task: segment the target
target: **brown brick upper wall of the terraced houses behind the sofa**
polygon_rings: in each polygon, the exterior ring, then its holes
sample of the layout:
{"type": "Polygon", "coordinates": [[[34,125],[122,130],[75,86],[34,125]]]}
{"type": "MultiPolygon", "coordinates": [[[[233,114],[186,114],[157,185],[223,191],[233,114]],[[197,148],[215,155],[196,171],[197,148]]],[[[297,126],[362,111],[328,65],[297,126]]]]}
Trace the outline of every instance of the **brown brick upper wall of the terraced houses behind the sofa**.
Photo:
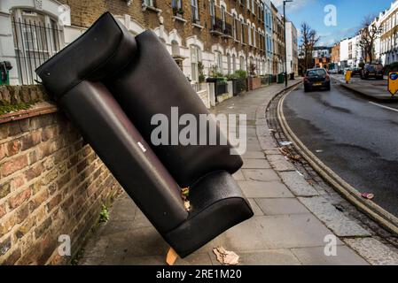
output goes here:
{"type": "MultiPolygon", "coordinates": [[[[200,25],[203,29],[198,27],[192,27],[191,25],[191,0],[183,0],[183,19],[186,19],[186,23],[173,19],[173,9],[171,1],[167,0],[153,0],[153,3],[157,8],[161,10],[160,14],[155,11],[143,11],[142,0],[134,0],[129,6],[124,0],[60,0],[59,2],[68,4],[71,7],[71,19],[72,25],[78,27],[90,27],[92,23],[98,19],[98,17],[105,11],[110,11],[113,15],[124,15],[128,14],[131,19],[136,20],[145,28],[160,27],[160,16],[163,19],[163,25],[168,31],[176,29],[178,34],[183,38],[183,44],[185,39],[191,35],[197,35],[201,42],[205,43],[205,50],[211,50],[211,47],[219,43],[224,49],[235,48],[237,52],[240,50],[244,51],[246,55],[252,52],[254,56],[260,54],[265,56],[265,50],[260,50],[260,36],[256,34],[256,47],[247,45],[248,30],[247,28],[243,31],[245,34],[245,42],[243,45],[239,42],[235,42],[233,39],[222,38],[221,36],[215,36],[210,34],[210,14],[209,14],[209,2],[208,0],[199,0],[199,20],[200,25]]],[[[217,1],[217,4],[220,2],[217,1]]],[[[239,4],[235,0],[226,0],[227,10],[230,12],[235,9],[238,14],[243,15],[246,19],[249,19],[252,23],[255,23],[256,27],[264,29],[263,22],[258,19],[257,11],[254,15],[251,11],[248,11],[246,4],[239,4]]],[[[246,3],[246,2],[245,2],[246,3]]],[[[216,8],[216,16],[220,16],[219,8],[216,8]]],[[[238,28],[238,38],[242,31],[238,28]]]]}

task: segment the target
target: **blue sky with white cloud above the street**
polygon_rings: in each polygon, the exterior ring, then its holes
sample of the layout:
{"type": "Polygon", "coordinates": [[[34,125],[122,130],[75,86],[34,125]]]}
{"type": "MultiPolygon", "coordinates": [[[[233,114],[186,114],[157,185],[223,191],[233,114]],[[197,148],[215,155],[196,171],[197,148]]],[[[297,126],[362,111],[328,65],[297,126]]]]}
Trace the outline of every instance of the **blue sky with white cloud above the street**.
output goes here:
{"type": "MultiPolygon", "coordinates": [[[[283,13],[283,0],[271,1],[283,13]]],[[[394,0],[293,0],[293,3],[286,3],[286,17],[293,21],[299,35],[301,23],[307,22],[321,36],[318,45],[332,46],[343,38],[355,35],[364,17],[378,16],[392,2],[394,0]],[[336,26],[324,24],[327,14],[324,8],[328,4],[336,7],[336,26]]]]}

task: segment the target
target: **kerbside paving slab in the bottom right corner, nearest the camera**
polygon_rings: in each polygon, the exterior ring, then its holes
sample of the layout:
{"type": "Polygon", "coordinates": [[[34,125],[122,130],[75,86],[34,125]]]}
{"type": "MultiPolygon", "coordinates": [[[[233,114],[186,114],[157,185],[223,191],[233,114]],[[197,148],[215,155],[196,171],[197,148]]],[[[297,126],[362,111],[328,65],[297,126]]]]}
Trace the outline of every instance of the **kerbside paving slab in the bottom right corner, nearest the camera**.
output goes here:
{"type": "Polygon", "coordinates": [[[398,251],[375,238],[345,239],[344,241],[372,265],[398,265],[398,251]]]}

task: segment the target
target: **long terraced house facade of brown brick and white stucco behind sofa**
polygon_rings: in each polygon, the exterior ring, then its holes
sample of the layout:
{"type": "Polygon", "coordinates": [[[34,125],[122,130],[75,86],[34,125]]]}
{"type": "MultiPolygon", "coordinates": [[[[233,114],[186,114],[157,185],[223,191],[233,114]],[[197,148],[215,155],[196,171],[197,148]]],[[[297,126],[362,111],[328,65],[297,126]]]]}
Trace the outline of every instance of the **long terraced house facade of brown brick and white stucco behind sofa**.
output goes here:
{"type": "Polygon", "coordinates": [[[131,34],[152,29],[192,83],[236,70],[283,72],[283,21],[270,1],[2,0],[0,60],[12,63],[11,84],[35,83],[35,68],[105,11],[131,34]]]}

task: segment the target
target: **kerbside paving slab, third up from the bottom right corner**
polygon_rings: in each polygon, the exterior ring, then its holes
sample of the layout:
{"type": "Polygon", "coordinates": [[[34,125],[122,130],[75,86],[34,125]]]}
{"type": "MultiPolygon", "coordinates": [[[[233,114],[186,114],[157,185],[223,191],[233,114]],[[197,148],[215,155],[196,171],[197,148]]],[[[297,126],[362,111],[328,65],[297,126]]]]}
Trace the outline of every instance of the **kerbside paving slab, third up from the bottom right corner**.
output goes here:
{"type": "Polygon", "coordinates": [[[319,195],[298,172],[280,172],[283,182],[297,196],[319,195]]]}

